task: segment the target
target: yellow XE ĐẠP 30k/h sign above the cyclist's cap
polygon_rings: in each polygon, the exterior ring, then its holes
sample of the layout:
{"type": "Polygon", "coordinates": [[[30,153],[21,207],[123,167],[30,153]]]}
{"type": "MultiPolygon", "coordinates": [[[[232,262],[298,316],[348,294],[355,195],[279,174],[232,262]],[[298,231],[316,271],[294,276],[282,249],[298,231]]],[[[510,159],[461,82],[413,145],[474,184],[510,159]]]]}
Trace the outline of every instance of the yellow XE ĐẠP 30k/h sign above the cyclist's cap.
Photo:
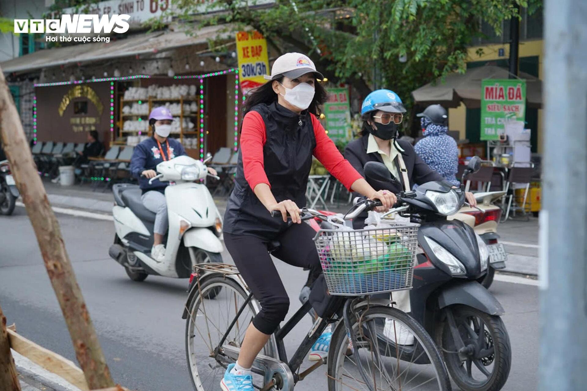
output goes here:
{"type": "Polygon", "coordinates": [[[258,31],[237,32],[238,70],[242,93],[255,89],[266,82],[269,74],[267,41],[258,31]]]}

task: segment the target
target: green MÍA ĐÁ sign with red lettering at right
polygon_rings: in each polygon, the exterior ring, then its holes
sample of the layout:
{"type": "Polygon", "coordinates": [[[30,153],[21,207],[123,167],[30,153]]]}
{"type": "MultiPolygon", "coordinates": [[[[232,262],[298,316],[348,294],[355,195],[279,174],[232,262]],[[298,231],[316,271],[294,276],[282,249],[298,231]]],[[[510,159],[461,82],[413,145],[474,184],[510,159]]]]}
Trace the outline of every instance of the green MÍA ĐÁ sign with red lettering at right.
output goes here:
{"type": "Polygon", "coordinates": [[[507,121],[526,118],[526,81],[485,79],[481,81],[481,140],[499,140],[507,121]]]}

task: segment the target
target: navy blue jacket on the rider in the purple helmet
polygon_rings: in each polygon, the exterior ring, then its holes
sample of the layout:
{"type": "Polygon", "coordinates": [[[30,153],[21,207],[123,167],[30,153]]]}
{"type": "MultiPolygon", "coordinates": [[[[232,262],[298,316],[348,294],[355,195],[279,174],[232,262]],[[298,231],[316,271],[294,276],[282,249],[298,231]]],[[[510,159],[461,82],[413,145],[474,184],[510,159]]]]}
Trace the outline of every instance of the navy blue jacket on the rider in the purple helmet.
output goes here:
{"type": "MultiPolygon", "coordinates": [[[[169,156],[167,155],[167,144],[161,143],[161,149],[167,160],[176,158],[181,155],[185,155],[185,149],[181,142],[168,137],[169,142],[169,156]]],[[[157,145],[157,140],[154,137],[147,138],[142,141],[139,145],[134,147],[133,157],[130,159],[130,173],[135,177],[139,178],[140,188],[143,189],[143,194],[150,191],[156,190],[161,193],[165,192],[165,188],[169,185],[168,182],[161,182],[155,179],[153,183],[149,185],[149,179],[141,177],[141,172],[146,169],[156,169],[157,164],[163,161],[161,151],[157,145]]]]}

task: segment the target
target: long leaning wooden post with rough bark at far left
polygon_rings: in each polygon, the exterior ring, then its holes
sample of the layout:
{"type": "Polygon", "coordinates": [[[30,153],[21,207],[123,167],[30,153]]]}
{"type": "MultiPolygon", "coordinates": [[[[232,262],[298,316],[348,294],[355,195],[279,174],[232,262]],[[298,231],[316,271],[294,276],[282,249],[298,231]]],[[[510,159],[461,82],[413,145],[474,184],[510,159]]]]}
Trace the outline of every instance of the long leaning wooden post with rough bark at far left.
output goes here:
{"type": "Polygon", "coordinates": [[[1,69],[0,135],[87,385],[90,389],[113,387],[110,370],[65,250],[59,223],[49,205],[45,187],[33,162],[31,148],[1,69]]]}

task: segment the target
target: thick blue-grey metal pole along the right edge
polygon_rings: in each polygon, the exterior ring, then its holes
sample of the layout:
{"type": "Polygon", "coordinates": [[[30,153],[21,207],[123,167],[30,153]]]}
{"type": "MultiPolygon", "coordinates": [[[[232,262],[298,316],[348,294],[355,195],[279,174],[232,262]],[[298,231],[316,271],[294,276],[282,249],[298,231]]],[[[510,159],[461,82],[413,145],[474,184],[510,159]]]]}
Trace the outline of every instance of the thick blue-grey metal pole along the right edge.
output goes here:
{"type": "Polygon", "coordinates": [[[587,4],[546,0],[539,390],[587,384],[587,4]]]}

